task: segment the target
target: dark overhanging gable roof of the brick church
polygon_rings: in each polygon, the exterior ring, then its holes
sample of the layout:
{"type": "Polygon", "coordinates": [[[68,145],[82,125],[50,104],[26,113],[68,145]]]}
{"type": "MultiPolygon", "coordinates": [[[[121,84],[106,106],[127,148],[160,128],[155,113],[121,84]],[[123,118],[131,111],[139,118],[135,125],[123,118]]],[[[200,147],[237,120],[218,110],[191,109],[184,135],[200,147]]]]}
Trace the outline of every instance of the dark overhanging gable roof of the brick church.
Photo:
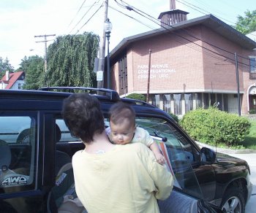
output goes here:
{"type": "Polygon", "coordinates": [[[217,34],[224,36],[230,41],[235,42],[236,44],[239,44],[241,47],[244,47],[248,50],[252,50],[256,47],[256,42],[254,42],[252,39],[249,39],[247,36],[241,34],[235,28],[227,25],[222,20],[219,20],[214,15],[210,14],[191,20],[185,20],[180,23],[175,23],[172,26],[168,26],[166,28],[158,28],[153,31],[147,31],[142,34],[126,37],[110,52],[110,58],[116,58],[117,55],[126,50],[127,46],[132,42],[137,42],[141,39],[147,39],[152,36],[166,34],[167,32],[177,31],[182,28],[196,26],[199,24],[202,24],[207,28],[211,28],[211,30],[215,31],[217,34]]]}

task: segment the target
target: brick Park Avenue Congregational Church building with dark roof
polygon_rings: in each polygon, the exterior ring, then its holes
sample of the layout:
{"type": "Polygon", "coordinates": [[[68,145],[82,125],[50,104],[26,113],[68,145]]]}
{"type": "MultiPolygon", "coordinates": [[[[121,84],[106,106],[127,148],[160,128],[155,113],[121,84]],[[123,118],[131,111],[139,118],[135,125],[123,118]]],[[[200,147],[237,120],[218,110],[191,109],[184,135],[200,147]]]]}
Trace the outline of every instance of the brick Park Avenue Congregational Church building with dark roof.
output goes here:
{"type": "Polygon", "coordinates": [[[187,12],[173,9],[159,18],[162,28],[124,38],[111,51],[110,88],[146,95],[151,50],[149,102],[157,107],[176,115],[214,104],[241,115],[256,109],[252,39],[214,15],[187,20],[187,12]]]}

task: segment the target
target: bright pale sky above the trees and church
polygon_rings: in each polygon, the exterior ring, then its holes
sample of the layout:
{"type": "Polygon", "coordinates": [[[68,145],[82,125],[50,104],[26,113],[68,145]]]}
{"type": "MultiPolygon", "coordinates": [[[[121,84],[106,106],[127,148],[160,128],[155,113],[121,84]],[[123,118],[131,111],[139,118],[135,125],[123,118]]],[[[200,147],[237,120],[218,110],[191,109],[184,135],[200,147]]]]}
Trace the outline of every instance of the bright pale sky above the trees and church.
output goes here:
{"type": "MultiPolygon", "coordinates": [[[[104,0],[1,0],[0,1],[0,57],[8,58],[18,69],[25,56],[45,55],[47,46],[57,36],[93,32],[102,37],[105,9],[104,0]]],[[[170,10],[170,0],[108,0],[108,18],[113,25],[110,51],[127,36],[159,28],[156,23],[129,11],[125,3],[140,9],[144,16],[158,18],[170,10]],[[126,15],[124,15],[126,14],[126,15]],[[128,17],[129,16],[129,17],[128,17]],[[132,19],[132,18],[133,19],[132,19]]],[[[188,20],[212,14],[229,25],[235,25],[238,15],[256,9],[255,0],[176,0],[176,9],[189,12],[188,20]]],[[[140,12],[140,13],[141,13],[140,12]]]]}

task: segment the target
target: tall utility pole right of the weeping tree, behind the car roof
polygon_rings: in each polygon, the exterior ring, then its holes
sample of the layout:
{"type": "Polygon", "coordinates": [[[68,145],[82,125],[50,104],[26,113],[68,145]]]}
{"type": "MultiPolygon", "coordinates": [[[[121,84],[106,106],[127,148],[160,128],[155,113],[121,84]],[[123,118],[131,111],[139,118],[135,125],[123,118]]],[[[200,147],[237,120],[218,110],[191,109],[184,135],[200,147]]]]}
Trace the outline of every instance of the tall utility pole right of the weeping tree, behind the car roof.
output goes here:
{"type": "Polygon", "coordinates": [[[104,77],[105,77],[105,44],[106,44],[106,34],[105,34],[105,21],[108,18],[108,0],[105,0],[105,12],[103,20],[103,34],[99,41],[99,66],[97,71],[97,88],[104,87],[104,77]]]}

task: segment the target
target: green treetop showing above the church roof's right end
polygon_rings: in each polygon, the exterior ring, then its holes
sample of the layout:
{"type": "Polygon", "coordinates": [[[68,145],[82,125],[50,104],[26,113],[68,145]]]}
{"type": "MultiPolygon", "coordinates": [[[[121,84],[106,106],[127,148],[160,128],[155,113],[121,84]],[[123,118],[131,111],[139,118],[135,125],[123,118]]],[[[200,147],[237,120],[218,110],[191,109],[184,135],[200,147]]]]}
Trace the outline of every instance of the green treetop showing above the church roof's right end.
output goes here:
{"type": "Polygon", "coordinates": [[[244,12],[244,15],[245,17],[238,15],[236,25],[233,27],[242,34],[249,34],[256,31],[256,10],[253,10],[252,12],[247,10],[244,12]]]}

